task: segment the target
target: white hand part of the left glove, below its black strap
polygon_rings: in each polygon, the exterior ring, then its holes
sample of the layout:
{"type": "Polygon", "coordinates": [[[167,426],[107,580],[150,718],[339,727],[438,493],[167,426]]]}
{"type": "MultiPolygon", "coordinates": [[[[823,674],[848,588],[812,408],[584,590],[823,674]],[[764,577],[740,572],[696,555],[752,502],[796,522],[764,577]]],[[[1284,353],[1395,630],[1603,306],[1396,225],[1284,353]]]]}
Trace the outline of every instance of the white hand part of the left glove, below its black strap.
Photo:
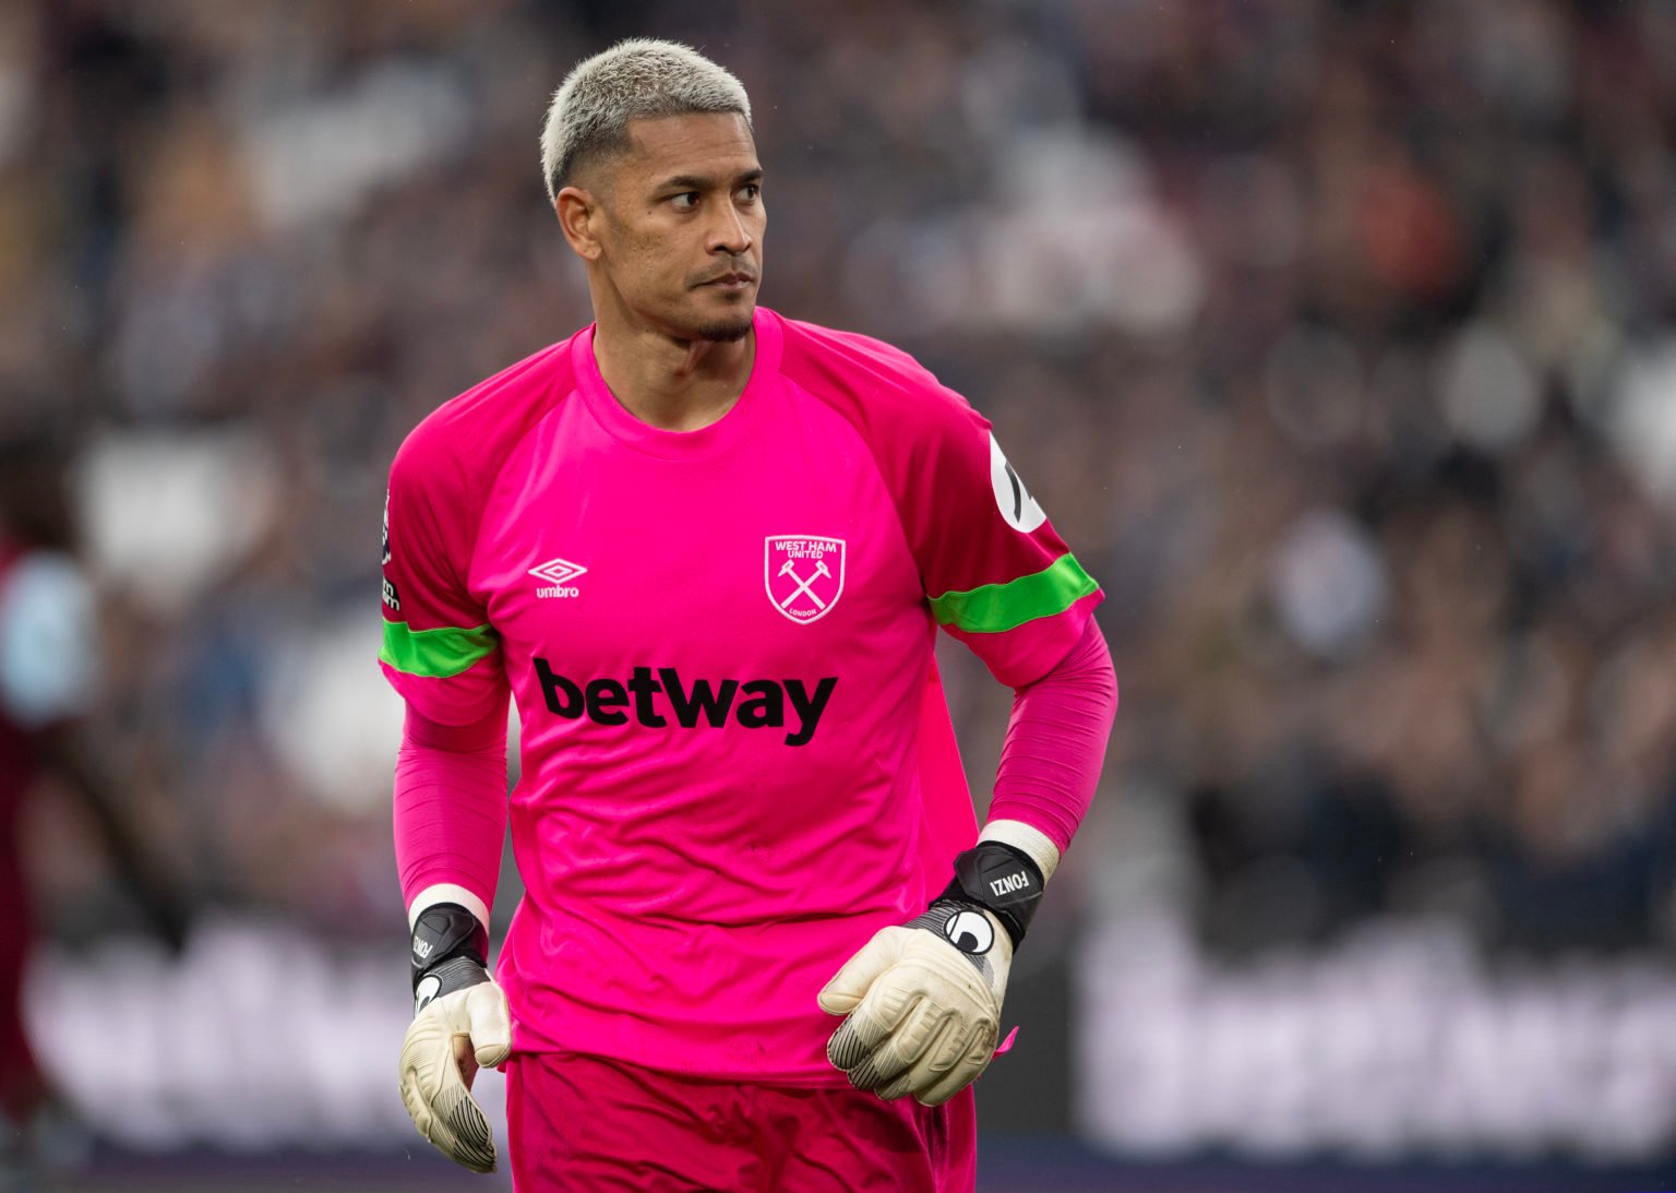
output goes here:
{"type": "Polygon", "coordinates": [[[471,1082],[479,1066],[493,1067],[506,1059],[511,1037],[506,994],[486,974],[476,985],[429,1000],[421,982],[419,1010],[402,1039],[402,1101],[419,1134],[478,1173],[494,1171],[494,1139],[483,1108],[471,1096],[471,1082]]]}

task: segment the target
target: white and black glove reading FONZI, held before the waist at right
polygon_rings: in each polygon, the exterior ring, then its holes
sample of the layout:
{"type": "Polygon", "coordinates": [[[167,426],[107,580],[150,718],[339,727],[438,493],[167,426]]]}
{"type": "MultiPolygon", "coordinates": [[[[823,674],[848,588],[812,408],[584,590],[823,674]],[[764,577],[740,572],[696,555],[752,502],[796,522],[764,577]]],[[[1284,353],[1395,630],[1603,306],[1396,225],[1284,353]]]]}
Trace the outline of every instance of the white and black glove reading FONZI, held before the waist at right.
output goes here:
{"type": "Polygon", "coordinates": [[[845,1015],[826,1059],[885,1099],[940,1106],[965,1089],[996,1054],[1012,950],[1041,893],[1041,870],[1009,844],[955,858],[922,915],[878,932],[821,990],[821,1010],[845,1015]]]}

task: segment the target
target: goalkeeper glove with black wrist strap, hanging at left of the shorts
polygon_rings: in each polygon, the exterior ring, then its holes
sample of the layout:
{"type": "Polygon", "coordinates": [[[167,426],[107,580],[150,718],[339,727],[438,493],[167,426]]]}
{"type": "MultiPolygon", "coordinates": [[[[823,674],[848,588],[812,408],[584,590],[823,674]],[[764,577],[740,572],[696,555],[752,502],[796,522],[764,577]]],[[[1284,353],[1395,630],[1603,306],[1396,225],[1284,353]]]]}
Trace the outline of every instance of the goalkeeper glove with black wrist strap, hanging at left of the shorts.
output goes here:
{"type": "Polygon", "coordinates": [[[478,1067],[511,1052],[511,1012],[483,958],[489,933],[458,903],[427,906],[414,925],[414,1020],[402,1039],[402,1101],[419,1134],[478,1173],[494,1171],[494,1139],[471,1097],[478,1067]]]}

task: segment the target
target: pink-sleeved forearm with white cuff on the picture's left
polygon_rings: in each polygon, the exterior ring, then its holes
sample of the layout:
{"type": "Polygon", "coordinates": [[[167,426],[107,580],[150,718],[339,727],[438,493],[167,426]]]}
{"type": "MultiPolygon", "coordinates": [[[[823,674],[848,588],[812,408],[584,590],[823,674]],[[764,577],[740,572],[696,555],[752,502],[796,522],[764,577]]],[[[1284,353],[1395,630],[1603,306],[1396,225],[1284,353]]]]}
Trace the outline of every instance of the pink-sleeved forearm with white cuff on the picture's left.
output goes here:
{"type": "Polygon", "coordinates": [[[504,705],[471,726],[442,726],[409,705],[394,828],[409,927],[444,901],[488,927],[506,834],[504,705]]]}

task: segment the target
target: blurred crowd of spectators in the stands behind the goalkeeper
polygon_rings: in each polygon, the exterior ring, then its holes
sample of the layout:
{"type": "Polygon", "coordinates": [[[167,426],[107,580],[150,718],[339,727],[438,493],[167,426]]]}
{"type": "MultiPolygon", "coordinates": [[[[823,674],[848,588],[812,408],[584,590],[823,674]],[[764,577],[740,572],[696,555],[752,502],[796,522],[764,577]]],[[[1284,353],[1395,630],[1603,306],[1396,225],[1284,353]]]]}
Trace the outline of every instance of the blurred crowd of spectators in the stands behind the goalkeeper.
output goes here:
{"type": "MultiPolygon", "coordinates": [[[[1676,935],[1656,0],[5,5],[0,441],[74,459],[94,727],[198,898],[401,923],[385,469],[587,322],[536,134],[634,34],[753,96],[763,300],[970,397],[1104,585],[1103,799],[1210,942],[1676,935]]],[[[949,677],[982,803],[1011,694],[949,677]]]]}

